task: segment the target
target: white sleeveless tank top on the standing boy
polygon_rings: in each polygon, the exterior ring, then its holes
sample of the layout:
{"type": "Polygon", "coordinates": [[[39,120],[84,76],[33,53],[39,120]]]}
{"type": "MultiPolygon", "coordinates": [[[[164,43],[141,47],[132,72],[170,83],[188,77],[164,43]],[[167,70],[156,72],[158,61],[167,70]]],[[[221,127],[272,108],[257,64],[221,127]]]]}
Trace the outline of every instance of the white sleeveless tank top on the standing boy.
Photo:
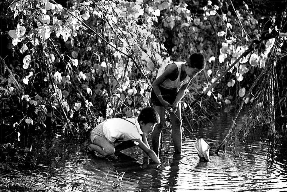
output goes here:
{"type": "MultiPolygon", "coordinates": [[[[174,81],[172,81],[170,79],[166,79],[164,82],[162,82],[162,84],[160,86],[163,88],[166,88],[166,89],[174,89],[177,87],[181,87],[182,85],[185,85],[189,82],[189,76],[186,76],[186,78],[183,81],[180,81],[181,65],[184,64],[185,62],[170,62],[168,64],[172,64],[172,63],[175,63],[177,65],[177,68],[179,70],[179,76],[174,81]]],[[[159,76],[161,76],[163,74],[163,72],[165,71],[165,68],[168,64],[165,64],[158,69],[158,74],[157,74],[156,78],[158,78],[159,76]]]]}

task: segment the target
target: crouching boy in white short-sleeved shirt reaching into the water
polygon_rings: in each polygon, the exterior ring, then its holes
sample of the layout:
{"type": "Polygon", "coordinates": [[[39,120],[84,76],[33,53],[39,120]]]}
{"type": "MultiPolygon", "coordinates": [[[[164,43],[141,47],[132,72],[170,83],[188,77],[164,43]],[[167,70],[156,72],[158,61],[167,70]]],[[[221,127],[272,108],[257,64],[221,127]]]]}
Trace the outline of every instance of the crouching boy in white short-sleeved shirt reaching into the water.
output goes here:
{"type": "Polygon", "coordinates": [[[87,146],[87,151],[96,151],[104,156],[112,155],[115,153],[112,143],[130,141],[145,152],[145,157],[150,157],[153,162],[160,163],[160,159],[150,149],[146,137],[159,122],[160,117],[152,107],[144,108],[138,118],[107,119],[91,131],[92,144],[87,146]]]}

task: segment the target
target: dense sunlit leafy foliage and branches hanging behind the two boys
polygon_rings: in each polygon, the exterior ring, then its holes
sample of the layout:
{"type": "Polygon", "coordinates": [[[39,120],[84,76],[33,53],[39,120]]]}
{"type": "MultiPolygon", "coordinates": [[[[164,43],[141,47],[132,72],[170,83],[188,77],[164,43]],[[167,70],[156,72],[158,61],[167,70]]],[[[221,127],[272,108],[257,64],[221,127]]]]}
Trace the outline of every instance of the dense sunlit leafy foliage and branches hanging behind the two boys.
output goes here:
{"type": "Polygon", "coordinates": [[[1,1],[1,131],[20,139],[57,125],[78,134],[136,116],[150,105],[157,69],[193,52],[207,66],[183,100],[188,124],[210,118],[210,106],[246,103],[249,124],[274,129],[286,116],[286,7],[261,12],[267,3],[1,1]]]}

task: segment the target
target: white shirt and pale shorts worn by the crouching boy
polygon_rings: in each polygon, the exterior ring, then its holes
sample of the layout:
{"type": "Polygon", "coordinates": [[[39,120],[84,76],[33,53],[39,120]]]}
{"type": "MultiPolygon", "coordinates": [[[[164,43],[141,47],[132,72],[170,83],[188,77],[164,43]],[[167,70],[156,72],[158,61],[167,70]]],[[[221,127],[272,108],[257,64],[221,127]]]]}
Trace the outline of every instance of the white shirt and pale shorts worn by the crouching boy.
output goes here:
{"type": "Polygon", "coordinates": [[[112,118],[100,123],[91,131],[91,140],[96,135],[105,137],[110,143],[119,141],[140,141],[142,132],[137,118],[112,118]]]}

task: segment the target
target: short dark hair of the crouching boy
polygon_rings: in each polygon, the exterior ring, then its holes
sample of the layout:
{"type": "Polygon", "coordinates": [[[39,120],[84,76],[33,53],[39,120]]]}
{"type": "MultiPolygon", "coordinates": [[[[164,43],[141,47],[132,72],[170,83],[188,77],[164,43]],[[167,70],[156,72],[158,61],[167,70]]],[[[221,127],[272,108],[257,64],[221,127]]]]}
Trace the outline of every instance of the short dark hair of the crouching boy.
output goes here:
{"type": "Polygon", "coordinates": [[[138,122],[142,121],[144,122],[144,124],[148,123],[158,124],[160,123],[160,116],[154,108],[146,107],[143,110],[141,110],[141,113],[139,114],[137,121],[138,122]]]}

